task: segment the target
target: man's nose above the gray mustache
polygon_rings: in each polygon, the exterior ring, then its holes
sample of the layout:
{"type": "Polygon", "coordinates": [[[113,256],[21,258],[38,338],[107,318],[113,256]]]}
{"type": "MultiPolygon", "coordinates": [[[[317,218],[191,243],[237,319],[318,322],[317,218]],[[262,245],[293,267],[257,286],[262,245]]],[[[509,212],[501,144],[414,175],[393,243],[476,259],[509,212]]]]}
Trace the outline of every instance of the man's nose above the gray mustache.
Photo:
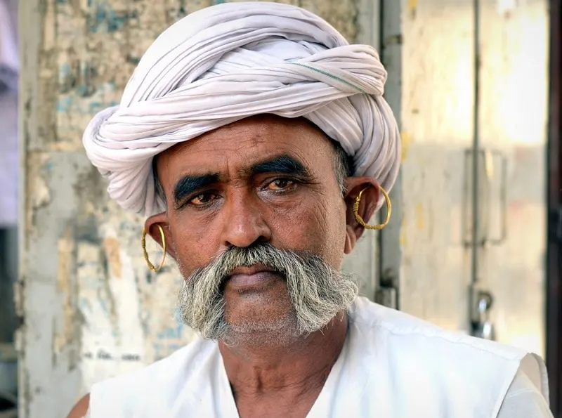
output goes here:
{"type": "Polygon", "coordinates": [[[263,218],[263,202],[257,196],[236,190],[223,204],[221,244],[228,247],[250,247],[256,242],[269,242],[271,230],[263,218]]]}

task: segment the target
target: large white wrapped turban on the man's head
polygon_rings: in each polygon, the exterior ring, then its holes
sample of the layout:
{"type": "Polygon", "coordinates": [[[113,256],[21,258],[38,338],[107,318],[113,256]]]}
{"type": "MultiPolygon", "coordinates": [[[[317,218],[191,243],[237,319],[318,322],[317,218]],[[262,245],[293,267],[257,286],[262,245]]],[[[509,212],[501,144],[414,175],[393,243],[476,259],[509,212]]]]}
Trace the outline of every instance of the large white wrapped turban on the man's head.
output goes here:
{"type": "Polygon", "coordinates": [[[377,51],[349,45],[325,20],[287,4],[225,3],[192,13],[148,48],[121,103],[84,132],[107,191],[145,216],[165,210],[152,159],[245,117],[305,117],[353,157],[354,176],[390,190],[400,164],[377,51]]]}

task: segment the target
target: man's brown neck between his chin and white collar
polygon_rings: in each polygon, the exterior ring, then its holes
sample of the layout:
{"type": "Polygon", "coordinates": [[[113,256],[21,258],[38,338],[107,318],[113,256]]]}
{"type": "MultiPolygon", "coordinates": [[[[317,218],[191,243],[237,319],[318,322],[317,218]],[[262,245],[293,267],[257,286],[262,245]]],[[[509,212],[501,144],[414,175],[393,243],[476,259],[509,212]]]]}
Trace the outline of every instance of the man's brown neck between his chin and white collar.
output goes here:
{"type": "Polygon", "coordinates": [[[347,327],[347,315],[341,313],[321,331],[289,345],[219,343],[235,400],[278,397],[280,392],[295,400],[314,392],[318,396],[344,346],[347,327]]]}

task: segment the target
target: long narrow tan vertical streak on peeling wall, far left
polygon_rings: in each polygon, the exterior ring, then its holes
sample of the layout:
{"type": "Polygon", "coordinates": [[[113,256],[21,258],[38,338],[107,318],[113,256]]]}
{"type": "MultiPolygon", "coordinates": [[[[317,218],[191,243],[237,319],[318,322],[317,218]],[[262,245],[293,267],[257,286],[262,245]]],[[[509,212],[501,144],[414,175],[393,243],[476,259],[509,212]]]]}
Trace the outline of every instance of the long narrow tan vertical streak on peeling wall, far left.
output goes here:
{"type": "Polygon", "coordinates": [[[53,351],[60,353],[72,341],[74,328],[74,308],[72,307],[72,292],[70,289],[70,274],[72,271],[72,254],[74,254],[74,240],[72,228],[67,226],[65,233],[57,242],[58,268],[57,289],[64,294],[63,330],[57,332],[53,338],[53,351]]]}

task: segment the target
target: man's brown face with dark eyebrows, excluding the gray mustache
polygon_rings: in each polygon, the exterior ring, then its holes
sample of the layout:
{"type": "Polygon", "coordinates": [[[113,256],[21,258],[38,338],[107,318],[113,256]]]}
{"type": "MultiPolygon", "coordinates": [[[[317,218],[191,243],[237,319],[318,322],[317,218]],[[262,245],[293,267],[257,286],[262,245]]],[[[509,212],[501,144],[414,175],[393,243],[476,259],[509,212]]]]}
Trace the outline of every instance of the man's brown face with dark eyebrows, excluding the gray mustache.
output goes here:
{"type": "MultiPolygon", "coordinates": [[[[334,148],[308,122],[244,119],[162,153],[157,170],[168,204],[166,235],[186,280],[230,249],[264,246],[341,268],[349,229],[334,148]]],[[[258,263],[221,279],[229,325],[271,330],[292,323],[287,278],[266,270],[258,263]]]]}

